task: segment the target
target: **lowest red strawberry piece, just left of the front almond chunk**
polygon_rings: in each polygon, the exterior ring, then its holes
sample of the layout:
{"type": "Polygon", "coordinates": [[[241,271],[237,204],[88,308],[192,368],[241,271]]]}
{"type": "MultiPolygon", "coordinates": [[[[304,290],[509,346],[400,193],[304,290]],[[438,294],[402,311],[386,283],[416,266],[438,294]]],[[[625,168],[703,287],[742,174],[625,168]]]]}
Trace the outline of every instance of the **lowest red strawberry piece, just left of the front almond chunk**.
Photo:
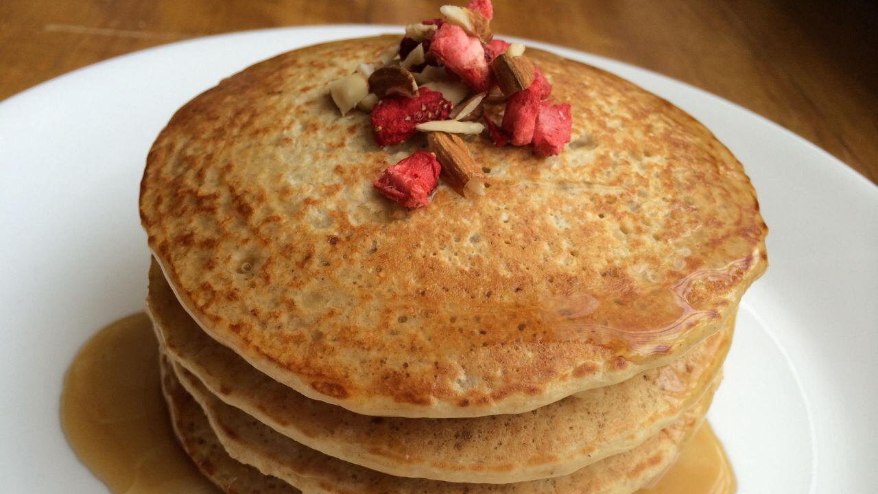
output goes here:
{"type": "Polygon", "coordinates": [[[440,171],[442,165],[433,153],[418,151],[388,167],[372,185],[405,207],[427,206],[440,171]]]}

